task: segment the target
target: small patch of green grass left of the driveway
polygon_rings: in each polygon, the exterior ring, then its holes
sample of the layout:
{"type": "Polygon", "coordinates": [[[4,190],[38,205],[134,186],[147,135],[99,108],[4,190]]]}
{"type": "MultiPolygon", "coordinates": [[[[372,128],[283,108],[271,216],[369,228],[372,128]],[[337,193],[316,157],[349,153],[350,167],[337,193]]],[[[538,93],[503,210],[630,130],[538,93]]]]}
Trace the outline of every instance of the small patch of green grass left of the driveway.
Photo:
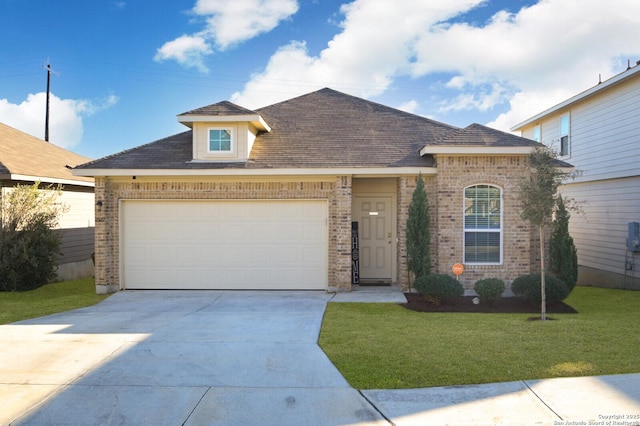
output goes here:
{"type": "Polygon", "coordinates": [[[47,284],[25,292],[0,292],[0,324],[95,305],[108,295],[97,295],[93,278],[47,284]]]}

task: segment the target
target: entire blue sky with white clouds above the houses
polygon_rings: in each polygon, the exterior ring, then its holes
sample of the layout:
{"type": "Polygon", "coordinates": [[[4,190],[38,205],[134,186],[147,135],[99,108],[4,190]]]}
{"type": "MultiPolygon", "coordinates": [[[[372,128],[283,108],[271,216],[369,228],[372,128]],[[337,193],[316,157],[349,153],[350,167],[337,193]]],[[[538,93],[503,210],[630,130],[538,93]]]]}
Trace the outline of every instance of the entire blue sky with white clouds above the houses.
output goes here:
{"type": "Polygon", "coordinates": [[[323,87],[509,131],[640,60],[638,0],[0,0],[0,122],[100,158],[323,87]]]}

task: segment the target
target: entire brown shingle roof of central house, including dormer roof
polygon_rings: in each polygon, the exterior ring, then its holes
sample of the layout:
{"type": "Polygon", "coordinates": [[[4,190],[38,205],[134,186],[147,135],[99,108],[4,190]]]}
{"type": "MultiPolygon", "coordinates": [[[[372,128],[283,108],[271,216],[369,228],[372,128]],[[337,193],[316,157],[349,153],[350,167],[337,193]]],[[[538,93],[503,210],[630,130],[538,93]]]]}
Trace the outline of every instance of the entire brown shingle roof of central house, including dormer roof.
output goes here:
{"type": "Polygon", "coordinates": [[[79,169],[225,169],[432,167],[425,145],[533,146],[473,124],[460,129],[331,89],[250,111],[219,102],[181,115],[259,114],[271,127],[256,137],[249,161],[192,162],[192,131],[114,154],[79,169]]]}

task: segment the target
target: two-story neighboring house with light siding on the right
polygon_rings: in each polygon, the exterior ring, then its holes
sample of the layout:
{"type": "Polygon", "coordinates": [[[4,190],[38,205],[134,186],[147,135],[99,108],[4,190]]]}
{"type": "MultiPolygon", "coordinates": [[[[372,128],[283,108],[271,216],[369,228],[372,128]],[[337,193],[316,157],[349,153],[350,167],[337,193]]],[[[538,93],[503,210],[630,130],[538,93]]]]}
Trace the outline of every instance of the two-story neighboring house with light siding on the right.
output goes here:
{"type": "Polygon", "coordinates": [[[561,188],[580,203],[570,232],[578,283],[640,289],[640,66],[513,127],[579,171],[561,188]]]}

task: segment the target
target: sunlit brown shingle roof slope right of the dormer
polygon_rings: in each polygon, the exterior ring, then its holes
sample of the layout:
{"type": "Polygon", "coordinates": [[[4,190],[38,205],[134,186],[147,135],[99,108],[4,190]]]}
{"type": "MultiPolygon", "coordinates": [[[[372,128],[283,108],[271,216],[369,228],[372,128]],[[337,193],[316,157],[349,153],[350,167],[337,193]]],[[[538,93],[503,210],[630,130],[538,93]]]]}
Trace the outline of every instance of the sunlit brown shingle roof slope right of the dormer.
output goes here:
{"type": "Polygon", "coordinates": [[[250,158],[276,168],[431,166],[420,148],[456,129],[331,89],[257,112],[272,130],[250,158]]]}

